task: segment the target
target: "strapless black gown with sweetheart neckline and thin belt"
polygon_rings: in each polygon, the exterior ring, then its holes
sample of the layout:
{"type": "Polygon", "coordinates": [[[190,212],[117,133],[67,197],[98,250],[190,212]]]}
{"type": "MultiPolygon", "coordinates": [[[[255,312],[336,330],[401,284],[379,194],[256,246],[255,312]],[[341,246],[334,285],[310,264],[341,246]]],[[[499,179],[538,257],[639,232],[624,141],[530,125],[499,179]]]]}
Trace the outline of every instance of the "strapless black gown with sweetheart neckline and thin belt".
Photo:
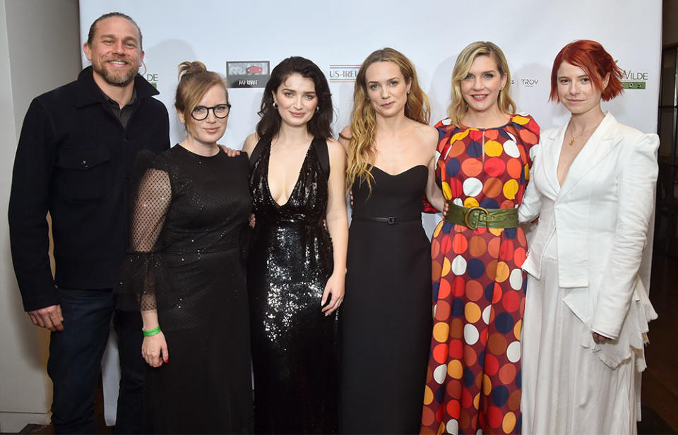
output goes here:
{"type": "Polygon", "coordinates": [[[421,221],[428,169],[371,173],[371,193],[367,183],[353,187],[340,431],[418,434],[432,328],[431,244],[421,221]]]}

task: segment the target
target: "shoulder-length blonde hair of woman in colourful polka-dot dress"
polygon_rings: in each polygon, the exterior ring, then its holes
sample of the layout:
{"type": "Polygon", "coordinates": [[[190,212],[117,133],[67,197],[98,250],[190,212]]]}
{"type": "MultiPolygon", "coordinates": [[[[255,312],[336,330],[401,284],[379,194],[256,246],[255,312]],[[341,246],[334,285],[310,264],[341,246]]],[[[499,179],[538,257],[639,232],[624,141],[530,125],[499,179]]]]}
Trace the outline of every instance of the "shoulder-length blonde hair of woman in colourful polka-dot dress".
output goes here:
{"type": "Polygon", "coordinates": [[[499,92],[499,98],[496,105],[502,113],[515,113],[516,103],[511,100],[511,71],[509,71],[509,63],[506,61],[504,52],[493,42],[477,41],[468,44],[457,56],[457,61],[452,70],[452,95],[451,102],[447,108],[447,115],[450,117],[452,124],[456,126],[461,125],[466,112],[468,112],[468,103],[461,95],[461,81],[468,75],[471,65],[477,56],[489,56],[496,62],[496,68],[499,70],[501,76],[506,75],[506,85],[504,89],[499,92]]]}

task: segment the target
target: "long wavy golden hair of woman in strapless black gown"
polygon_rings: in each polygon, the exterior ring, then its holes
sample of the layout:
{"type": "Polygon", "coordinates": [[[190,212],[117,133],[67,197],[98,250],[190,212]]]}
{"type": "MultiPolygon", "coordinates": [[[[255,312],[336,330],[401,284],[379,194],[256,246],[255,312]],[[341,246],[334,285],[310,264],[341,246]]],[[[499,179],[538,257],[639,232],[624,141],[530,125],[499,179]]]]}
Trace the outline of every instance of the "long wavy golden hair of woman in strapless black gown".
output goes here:
{"type": "Polygon", "coordinates": [[[393,62],[400,68],[405,81],[410,83],[410,93],[405,103],[405,117],[422,124],[429,124],[431,108],[429,98],[417,79],[417,71],[404,54],[389,47],[376,50],[364,60],[355,78],[353,90],[353,111],[351,112],[351,138],[346,169],[346,189],[350,190],[355,181],[367,181],[371,190],[371,167],[376,153],[374,134],[376,131],[376,114],[374,107],[367,100],[367,68],[375,62],[393,62]]]}

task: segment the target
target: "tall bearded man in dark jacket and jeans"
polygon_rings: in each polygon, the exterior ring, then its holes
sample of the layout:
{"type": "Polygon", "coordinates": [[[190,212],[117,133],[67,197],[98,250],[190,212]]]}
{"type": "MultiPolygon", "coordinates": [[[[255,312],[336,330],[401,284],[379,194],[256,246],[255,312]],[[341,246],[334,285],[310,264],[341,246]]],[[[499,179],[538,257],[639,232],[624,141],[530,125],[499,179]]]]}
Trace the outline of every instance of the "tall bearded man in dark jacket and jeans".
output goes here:
{"type": "Polygon", "coordinates": [[[107,13],[83,45],[92,66],[36,97],[23,121],[9,202],[14,270],[30,320],[52,331],[47,372],[57,433],[95,433],[94,395],[113,318],[121,382],[116,431],[141,427],[141,315],[115,311],[112,287],[129,240],[138,150],[169,148],[167,109],[138,75],[141,30],[107,13]],[[52,217],[56,273],[49,266],[52,217]]]}

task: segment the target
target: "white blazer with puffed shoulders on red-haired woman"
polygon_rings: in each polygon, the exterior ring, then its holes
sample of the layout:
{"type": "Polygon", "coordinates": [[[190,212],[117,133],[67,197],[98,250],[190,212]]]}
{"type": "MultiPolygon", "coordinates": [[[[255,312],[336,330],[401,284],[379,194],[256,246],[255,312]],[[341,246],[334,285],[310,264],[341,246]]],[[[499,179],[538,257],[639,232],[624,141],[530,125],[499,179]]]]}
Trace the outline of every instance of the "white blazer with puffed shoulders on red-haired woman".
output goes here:
{"type": "Polygon", "coordinates": [[[639,271],[643,254],[648,261],[651,254],[659,138],[607,113],[560,186],[566,128],[542,133],[518,210],[521,222],[539,217],[523,270],[540,279],[544,250],[556,237],[559,285],[571,289],[564,302],[590,330],[617,339],[632,299],[645,311],[646,326],[657,316],[647,296],[649,263],[639,271]]]}

